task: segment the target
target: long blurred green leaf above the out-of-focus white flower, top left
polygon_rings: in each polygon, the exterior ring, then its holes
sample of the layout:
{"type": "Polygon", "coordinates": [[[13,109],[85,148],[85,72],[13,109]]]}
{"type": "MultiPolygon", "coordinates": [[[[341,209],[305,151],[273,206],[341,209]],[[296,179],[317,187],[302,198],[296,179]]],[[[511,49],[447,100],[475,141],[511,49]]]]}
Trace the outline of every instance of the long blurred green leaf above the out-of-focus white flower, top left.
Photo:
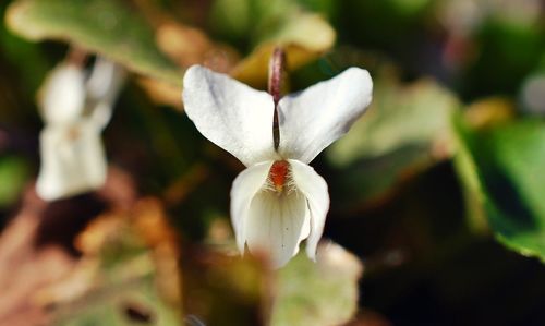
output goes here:
{"type": "Polygon", "coordinates": [[[68,41],[136,73],[181,85],[181,70],[159,51],[146,20],[123,1],[20,0],[9,7],[7,23],[27,39],[68,41]]]}

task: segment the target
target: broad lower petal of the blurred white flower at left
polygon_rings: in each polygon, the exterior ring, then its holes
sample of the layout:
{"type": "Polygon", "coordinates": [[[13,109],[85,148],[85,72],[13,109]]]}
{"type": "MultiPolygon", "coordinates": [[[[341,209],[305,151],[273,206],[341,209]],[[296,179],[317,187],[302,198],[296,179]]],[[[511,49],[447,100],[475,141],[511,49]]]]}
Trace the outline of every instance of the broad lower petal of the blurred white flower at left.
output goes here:
{"type": "Polygon", "coordinates": [[[48,125],[40,134],[37,193],[47,201],[95,190],[106,181],[100,130],[88,121],[48,125]]]}

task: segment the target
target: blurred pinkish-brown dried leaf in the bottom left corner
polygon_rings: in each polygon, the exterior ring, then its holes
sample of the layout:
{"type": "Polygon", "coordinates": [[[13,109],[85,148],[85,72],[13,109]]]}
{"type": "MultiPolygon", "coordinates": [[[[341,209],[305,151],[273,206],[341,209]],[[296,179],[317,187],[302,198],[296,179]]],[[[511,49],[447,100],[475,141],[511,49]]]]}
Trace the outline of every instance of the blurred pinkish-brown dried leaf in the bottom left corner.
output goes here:
{"type": "Polygon", "coordinates": [[[49,314],[36,298],[37,291],[62,279],[75,258],[58,244],[37,245],[43,230],[44,202],[27,191],[21,212],[0,238],[0,325],[45,325],[49,314]]]}

